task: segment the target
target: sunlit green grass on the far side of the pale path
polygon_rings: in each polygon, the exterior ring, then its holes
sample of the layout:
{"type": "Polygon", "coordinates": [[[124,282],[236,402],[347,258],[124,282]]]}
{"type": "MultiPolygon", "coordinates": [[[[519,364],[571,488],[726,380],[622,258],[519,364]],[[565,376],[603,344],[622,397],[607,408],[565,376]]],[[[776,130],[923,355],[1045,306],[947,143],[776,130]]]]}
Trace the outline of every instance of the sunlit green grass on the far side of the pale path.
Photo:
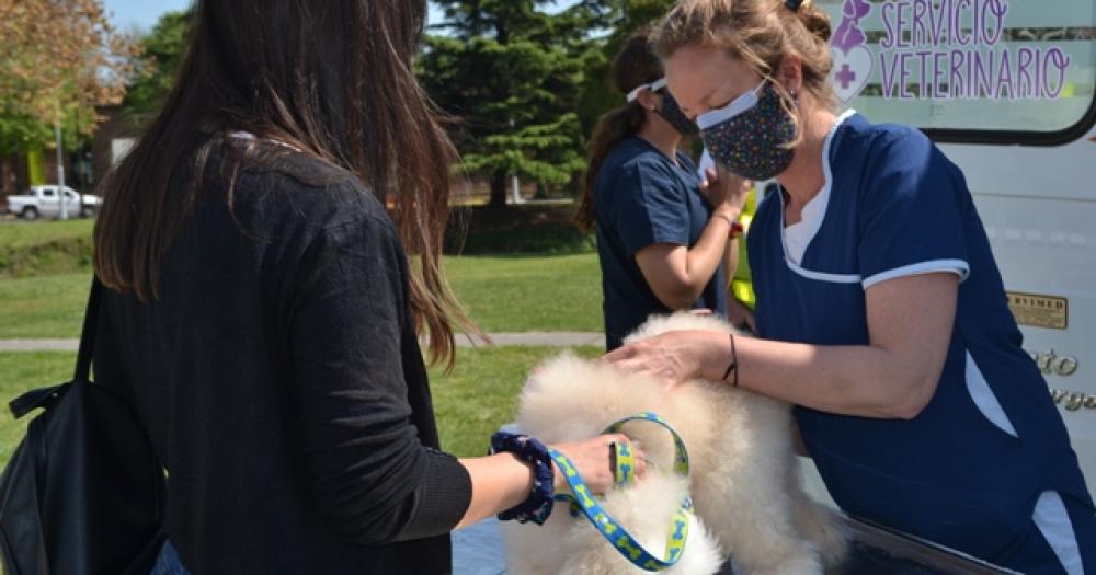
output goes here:
{"type": "MultiPolygon", "coordinates": [[[[449,281],[489,332],[602,329],[596,254],[447,257],[449,281]]],[[[91,272],[0,279],[0,340],[78,337],[91,272]]]]}

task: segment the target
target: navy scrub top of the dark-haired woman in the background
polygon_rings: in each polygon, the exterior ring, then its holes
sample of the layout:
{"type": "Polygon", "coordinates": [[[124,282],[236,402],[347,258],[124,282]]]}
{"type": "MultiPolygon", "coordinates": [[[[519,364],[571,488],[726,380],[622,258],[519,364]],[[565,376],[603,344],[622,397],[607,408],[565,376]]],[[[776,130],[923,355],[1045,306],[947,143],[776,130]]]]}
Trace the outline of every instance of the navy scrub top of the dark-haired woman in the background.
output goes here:
{"type": "MultiPolygon", "coordinates": [[[[647,284],[636,252],[655,243],[692,249],[708,225],[711,208],[700,195],[700,179],[688,156],[678,152],[675,163],[639,137],[621,141],[609,152],[594,192],[605,346],[613,350],[652,313],[673,311],[647,284]]],[[[719,266],[694,309],[727,315],[724,267],[719,266]]]]}

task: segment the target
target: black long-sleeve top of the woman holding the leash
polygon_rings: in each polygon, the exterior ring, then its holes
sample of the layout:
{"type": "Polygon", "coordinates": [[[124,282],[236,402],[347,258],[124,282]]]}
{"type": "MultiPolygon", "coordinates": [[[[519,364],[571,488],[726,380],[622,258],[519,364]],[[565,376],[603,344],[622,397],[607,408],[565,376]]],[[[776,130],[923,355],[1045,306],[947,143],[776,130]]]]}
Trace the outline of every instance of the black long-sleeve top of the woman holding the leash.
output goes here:
{"type": "Polygon", "coordinates": [[[388,215],[297,153],[229,210],[222,162],[160,297],[107,291],[94,356],[168,471],[169,539],[196,574],[448,573],[471,482],[437,450],[388,215]]]}

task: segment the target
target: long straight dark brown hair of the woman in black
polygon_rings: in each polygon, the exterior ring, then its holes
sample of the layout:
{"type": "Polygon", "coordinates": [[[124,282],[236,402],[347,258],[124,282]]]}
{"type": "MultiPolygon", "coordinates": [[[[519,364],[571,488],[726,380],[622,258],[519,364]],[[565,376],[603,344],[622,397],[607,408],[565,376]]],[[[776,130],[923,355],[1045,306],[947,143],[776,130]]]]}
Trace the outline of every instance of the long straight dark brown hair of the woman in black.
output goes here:
{"type": "MultiPolygon", "coordinates": [[[[162,258],[183,227],[210,151],[236,130],[288,143],[359,179],[419,265],[411,307],[432,358],[453,365],[453,322],[471,326],[441,267],[456,151],[415,81],[425,0],[198,0],[175,88],[103,184],[95,268],[103,283],[158,297],[162,258]]],[[[232,173],[262,165],[248,148],[232,173]]],[[[269,162],[267,162],[269,163],[269,162]]],[[[232,177],[228,200],[231,205],[232,177]]],[[[475,330],[475,329],[473,329],[475,330]]]]}

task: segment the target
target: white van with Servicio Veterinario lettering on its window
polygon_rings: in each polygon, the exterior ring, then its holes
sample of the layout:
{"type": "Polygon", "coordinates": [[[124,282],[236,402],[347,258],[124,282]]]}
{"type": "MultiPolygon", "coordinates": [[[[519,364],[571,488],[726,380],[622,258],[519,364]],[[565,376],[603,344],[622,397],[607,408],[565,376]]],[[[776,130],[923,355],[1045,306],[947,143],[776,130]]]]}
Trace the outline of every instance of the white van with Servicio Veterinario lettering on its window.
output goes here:
{"type": "Polygon", "coordinates": [[[817,4],[843,105],[920,127],[966,173],[1096,497],[1096,2],[817,4]]]}

